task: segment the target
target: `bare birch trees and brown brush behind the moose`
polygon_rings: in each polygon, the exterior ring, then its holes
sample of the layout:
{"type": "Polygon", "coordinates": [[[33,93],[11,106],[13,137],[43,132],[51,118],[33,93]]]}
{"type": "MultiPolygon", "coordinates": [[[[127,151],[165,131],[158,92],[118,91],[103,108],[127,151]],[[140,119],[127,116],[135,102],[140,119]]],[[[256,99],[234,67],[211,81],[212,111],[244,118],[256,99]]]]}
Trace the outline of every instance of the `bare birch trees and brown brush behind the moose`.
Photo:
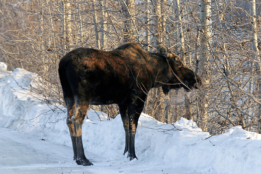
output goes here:
{"type": "MultiPolygon", "coordinates": [[[[261,132],[260,0],[0,0],[0,62],[39,75],[30,90],[59,109],[60,59],[77,47],[165,44],[202,79],[194,92],[152,89],[143,112],[193,119],[212,135],[242,125],[261,132]]],[[[29,78],[29,77],[28,77],[29,78]]],[[[114,104],[92,106],[119,112],[114,104]]]]}

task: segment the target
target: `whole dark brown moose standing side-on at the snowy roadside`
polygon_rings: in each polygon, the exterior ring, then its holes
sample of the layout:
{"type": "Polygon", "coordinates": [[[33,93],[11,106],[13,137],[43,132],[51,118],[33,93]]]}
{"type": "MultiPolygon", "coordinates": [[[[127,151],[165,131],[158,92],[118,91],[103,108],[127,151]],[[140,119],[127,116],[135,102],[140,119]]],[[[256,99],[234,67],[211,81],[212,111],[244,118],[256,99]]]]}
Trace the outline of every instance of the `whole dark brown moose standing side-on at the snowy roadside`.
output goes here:
{"type": "Polygon", "coordinates": [[[128,42],[112,51],[77,48],[59,63],[59,76],[67,108],[67,125],[73,143],[74,160],[78,165],[93,165],[87,160],[82,126],[90,104],[118,104],[125,130],[127,158],[135,155],[134,140],[138,119],[149,90],[162,87],[197,89],[201,80],[166,46],[151,53],[138,44],[128,42]]]}

